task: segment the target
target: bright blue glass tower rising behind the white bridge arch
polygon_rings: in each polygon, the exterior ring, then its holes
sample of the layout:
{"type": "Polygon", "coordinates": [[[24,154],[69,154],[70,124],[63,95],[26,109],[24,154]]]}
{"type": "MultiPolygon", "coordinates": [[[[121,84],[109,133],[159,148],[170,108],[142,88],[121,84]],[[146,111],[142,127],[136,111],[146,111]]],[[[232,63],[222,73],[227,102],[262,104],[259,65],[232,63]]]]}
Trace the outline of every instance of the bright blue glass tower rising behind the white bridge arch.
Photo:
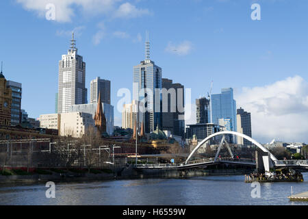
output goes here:
{"type": "MultiPolygon", "coordinates": [[[[222,88],[221,94],[211,94],[212,123],[219,124],[219,119],[230,119],[230,131],[236,131],[236,101],[233,99],[232,88],[222,88]]],[[[233,143],[235,143],[235,138],[233,143]]],[[[231,143],[232,143],[231,142],[231,143]]]]}

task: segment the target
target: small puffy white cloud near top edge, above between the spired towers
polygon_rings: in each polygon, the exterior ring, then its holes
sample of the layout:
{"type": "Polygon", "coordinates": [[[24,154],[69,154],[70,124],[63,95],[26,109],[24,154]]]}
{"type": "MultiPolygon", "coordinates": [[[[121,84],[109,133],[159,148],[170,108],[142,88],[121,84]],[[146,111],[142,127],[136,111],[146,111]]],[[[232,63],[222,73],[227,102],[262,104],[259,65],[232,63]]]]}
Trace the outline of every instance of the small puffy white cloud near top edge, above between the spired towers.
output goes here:
{"type": "Polygon", "coordinates": [[[135,5],[131,5],[131,3],[123,3],[120,5],[118,10],[114,13],[114,18],[136,18],[143,15],[149,15],[148,9],[138,9],[135,5]]]}

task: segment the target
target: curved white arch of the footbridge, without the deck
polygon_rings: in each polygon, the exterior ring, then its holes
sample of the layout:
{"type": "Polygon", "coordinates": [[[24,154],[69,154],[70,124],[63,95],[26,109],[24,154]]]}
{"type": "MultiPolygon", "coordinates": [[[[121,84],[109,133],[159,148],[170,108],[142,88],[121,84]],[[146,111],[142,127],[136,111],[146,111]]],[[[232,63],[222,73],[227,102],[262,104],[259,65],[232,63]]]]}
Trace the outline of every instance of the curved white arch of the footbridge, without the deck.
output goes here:
{"type": "MultiPolygon", "coordinates": [[[[257,142],[256,140],[254,140],[253,138],[244,135],[243,133],[238,133],[235,131],[219,131],[216,132],[214,134],[212,134],[211,136],[208,136],[207,138],[205,138],[202,142],[200,142],[192,151],[192,153],[190,153],[190,155],[188,156],[188,158],[185,161],[185,164],[187,164],[187,162],[189,161],[189,159],[192,157],[192,155],[194,155],[194,153],[196,153],[196,151],[198,151],[198,149],[203,146],[203,144],[205,144],[208,140],[210,140],[211,138],[214,138],[215,136],[223,136],[223,135],[227,135],[227,134],[231,134],[231,135],[235,135],[235,136],[240,136],[242,138],[245,138],[246,140],[252,142],[253,144],[255,144],[259,149],[261,149],[262,151],[266,152],[266,153],[270,153],[270,151],[268,151],[268,149],[266,149],[264,146],[262,146],[259,142],[257,142]]],[[[206,146],[205,146],[206,147],[206,146]]],[[[277,161],[277,158],[274,157],[274,155],[272,155],[272,153],[270,153],[270,158],[273,161],[277,161]]]]}

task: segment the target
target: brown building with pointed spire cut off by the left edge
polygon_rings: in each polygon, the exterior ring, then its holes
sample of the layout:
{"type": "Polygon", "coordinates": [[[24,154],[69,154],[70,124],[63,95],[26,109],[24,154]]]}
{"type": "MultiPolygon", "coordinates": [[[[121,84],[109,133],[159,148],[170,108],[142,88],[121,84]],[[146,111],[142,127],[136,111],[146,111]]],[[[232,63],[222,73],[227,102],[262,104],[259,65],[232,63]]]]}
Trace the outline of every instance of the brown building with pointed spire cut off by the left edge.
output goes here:
{"type": "Polygon", "coordinates": [[[0,125],[11,125],[12,89],[6,86],[6,79],[0,73],[0,125]]]}

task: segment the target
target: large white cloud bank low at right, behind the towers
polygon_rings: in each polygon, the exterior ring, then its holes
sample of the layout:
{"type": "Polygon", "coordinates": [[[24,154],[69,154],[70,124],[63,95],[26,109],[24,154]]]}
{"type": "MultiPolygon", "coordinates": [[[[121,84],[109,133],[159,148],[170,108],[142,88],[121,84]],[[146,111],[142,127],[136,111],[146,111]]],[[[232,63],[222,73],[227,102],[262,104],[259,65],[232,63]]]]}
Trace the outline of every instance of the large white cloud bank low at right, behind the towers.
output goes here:
{"type": "Polygon", "coordinates": [[[288,77],[268,86],[242,88],[238,107],[251,112],[253,138],[270,142],[308,142],[308,82],[288,77]]]}

